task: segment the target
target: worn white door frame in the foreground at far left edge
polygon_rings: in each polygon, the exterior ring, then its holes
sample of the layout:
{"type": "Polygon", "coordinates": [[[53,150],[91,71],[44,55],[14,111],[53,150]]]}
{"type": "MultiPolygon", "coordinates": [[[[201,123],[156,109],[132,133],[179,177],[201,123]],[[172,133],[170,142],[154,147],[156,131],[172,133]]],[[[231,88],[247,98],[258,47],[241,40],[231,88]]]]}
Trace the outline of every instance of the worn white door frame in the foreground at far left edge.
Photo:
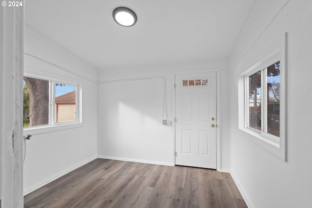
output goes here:
{"type": "Polygon", "coordinates": [[[20,7],[0,7],[0,207],[10,208],[24,206],[22,2],[20,7]]]}

